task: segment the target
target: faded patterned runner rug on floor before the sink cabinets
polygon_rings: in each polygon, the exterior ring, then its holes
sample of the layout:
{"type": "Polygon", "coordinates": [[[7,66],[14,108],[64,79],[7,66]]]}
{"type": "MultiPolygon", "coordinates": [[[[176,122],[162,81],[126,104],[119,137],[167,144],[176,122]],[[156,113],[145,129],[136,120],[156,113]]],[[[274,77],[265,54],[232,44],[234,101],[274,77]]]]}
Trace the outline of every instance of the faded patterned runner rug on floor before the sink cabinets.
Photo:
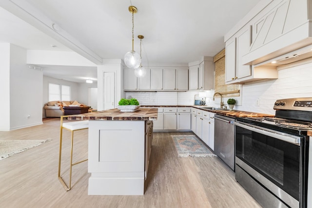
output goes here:
{"type": "Polygon", "coordinates": [[[212,153],[195,135],[171,136],[176,146],[178,157],[214,157],[212,153]]]}

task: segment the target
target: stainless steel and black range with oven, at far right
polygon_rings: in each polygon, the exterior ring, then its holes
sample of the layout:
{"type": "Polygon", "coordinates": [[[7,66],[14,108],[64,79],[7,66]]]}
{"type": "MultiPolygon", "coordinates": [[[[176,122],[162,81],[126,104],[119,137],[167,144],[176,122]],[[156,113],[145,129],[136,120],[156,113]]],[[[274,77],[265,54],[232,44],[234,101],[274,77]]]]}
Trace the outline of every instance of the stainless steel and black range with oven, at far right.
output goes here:
{"type": "Polygon", "coordinates": [[[306,208],[312,97],[273,109],[273,118],[236,118],[235,178],[265,208],[306,208]]]}

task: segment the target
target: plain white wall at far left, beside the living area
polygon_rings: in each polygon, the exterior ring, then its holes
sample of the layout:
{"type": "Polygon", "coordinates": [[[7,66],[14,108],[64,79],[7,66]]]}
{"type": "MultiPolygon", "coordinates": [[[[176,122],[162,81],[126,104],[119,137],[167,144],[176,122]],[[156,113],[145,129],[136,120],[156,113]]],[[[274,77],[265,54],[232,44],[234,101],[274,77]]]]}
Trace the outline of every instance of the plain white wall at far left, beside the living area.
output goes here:
{"type": "Polygon", "coordinates": [[[21,47],[4,43],[0,53],[6,59],[1,60],[1,99],[5,102],[0,105],[5,113],[1,114],[0,130],[42,124],[42,72],[28,68],[26,50],[21,47]]]}

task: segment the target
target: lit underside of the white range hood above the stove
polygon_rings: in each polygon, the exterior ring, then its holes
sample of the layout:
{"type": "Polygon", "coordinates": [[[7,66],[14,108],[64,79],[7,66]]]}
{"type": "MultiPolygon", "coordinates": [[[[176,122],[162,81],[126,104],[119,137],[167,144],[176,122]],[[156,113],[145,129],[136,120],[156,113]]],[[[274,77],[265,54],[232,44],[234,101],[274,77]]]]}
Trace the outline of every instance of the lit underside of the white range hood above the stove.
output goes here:
{"type": "MultiPolygon", "coordinates": [[[[312,58],[312,45],[297,49],[279,57],[272,58],[254,66],[277,67],[285,64],[294,63],[304,59],[312,58]]],[[[311,59],[312,61],[312,59],[311,59]]]]}

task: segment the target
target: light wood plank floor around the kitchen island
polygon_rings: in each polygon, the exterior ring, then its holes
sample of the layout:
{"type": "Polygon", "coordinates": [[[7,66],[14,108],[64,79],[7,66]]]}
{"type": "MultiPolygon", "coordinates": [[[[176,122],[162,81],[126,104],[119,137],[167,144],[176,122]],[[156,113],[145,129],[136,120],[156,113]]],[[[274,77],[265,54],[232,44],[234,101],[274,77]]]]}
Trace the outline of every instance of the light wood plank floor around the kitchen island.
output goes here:
{"type": "MultiPolygon", "coordinates": [[[[74,166],[72,190],[66,192],[58,179],[59,119],[43,123],[0,132],[1,140],[52,139],[0,160],[0,208],[260,208],[219,158],[177,157],[170,135],[191,132],[154,133],[144,196],[89,196],[87,162],[74,166]]],[[[75,134],[75,161],[87,157],[87,132],[75,134]]],[[[61,173],[65,180],[69,136],[65,131],[61,173]]]]}

